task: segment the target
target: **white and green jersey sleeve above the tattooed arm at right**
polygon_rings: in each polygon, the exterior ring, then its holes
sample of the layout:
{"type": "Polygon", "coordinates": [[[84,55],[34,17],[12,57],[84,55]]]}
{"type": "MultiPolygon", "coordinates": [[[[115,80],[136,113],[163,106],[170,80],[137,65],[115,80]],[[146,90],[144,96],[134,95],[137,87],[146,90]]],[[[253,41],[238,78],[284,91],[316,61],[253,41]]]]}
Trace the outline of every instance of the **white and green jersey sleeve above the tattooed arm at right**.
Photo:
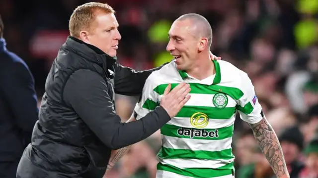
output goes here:
{"type": "Polygon", "coordinates": [[[240,76],[242,96],[237,106],[239,116],[249,124],[258,123],[263,118],[262,106],[258,102],[254,86],[247,74],[242,72],[240,76]]]}

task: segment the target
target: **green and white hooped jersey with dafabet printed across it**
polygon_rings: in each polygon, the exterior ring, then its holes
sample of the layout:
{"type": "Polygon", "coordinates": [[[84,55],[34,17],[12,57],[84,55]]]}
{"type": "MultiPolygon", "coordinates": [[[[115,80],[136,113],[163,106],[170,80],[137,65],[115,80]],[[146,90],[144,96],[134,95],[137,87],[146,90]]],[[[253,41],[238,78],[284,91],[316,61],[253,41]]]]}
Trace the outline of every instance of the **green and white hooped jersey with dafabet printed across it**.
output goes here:
{"type": "Polygon", "coordinates": [[[262,119],[261,106],[247,74],[226,61],[214,60],[216,74],[197,80],[172,61],[153,72],[136,104],[137,118],[160,103],[167,84],[186,82],[191,98],[161,129],[157,178],[233,178],[232,136],[235,115],[250,124],[262,119]]]}

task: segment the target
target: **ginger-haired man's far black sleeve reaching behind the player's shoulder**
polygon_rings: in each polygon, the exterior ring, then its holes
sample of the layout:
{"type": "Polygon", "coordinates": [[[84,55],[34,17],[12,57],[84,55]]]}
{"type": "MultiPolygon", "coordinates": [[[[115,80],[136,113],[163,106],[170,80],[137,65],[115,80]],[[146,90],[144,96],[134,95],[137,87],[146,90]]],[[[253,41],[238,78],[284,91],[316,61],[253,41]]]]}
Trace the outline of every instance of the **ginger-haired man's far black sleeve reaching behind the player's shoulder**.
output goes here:
{"type": "Polygon", "coordinates": [[[115,63],[115,93],[128,96],[140,95],[149,75],[153,71],[159,70],[165,64],[167,63],[154,69],[137,72],[134,69],[115,63]]]}

